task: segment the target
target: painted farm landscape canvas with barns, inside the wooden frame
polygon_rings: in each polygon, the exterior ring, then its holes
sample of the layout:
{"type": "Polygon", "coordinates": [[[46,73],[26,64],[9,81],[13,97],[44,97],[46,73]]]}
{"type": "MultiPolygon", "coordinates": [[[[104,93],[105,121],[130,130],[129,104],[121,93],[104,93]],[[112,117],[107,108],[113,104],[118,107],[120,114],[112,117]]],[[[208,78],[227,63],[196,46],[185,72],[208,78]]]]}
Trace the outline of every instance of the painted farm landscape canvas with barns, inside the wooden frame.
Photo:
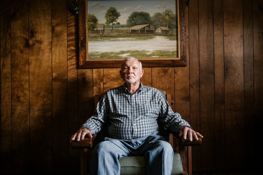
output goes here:
{"type": "Polygon", "coordinates": [[[87,61],[178,58],[175,0],[88,0],[87,61]]]}

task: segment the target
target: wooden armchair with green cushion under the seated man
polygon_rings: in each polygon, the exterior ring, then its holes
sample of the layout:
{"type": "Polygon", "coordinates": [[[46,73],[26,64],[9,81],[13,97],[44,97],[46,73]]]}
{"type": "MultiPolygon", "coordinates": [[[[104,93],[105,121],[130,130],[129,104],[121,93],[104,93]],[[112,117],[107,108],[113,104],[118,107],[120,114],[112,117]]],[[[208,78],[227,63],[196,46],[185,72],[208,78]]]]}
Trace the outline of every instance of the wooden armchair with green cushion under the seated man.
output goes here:
{"type": "MultiPolygon", "coordinates": [[[[166,97],[170,107],[173,104],[170,94],[166,94],[165,91],[160,91],[166,97]]],[[[95,108],[99,101],[99,95],[95,95],[95,108]]],[[[183,140],[176,133],[171,133],[164,128],[162,124],[159,123],[159,133],[161,136],[165,137],[174,150],[174,159],[173,159],[173,171],[171,174],[192,174],[192,162],[191,162],[191,146],[200,146],[201,138],[199,140],[189,141],[189,139],[183,140]]],[[[107,136],[107,127],[99,133],[94,134],[90,138],[84,138],[84,140],[73,141],[71,143],[72,148],[82,149],[80,152],[80,173],[81,175],[89,174],[89,160],[90,152],[93,147],[100,141],[104,140],[104,137],[107,136]]],[[[145,174],[146,173],[146,159],[145,157],[123,157],[119,160],[121,165],[120,174],[145,174]]]]}

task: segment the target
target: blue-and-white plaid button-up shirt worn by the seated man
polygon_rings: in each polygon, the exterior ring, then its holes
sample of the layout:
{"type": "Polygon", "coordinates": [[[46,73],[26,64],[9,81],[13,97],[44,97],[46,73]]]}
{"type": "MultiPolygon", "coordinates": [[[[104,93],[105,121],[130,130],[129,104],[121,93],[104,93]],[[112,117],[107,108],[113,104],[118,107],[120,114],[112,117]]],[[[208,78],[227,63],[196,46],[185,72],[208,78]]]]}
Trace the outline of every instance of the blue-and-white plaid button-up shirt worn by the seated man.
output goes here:
{"type": "Polygon", "coordinates": [[[123,85],[102,95],[94,115],[81,128],[89,128],[94,134],[109,122],[109,137],[130,140],[157,131],[158,118],[165,128],[177,133],[182,126],[190,127],[180,114],[173,112],[158,89],[140,83],[138,91],[131,94],[123,85]]]}

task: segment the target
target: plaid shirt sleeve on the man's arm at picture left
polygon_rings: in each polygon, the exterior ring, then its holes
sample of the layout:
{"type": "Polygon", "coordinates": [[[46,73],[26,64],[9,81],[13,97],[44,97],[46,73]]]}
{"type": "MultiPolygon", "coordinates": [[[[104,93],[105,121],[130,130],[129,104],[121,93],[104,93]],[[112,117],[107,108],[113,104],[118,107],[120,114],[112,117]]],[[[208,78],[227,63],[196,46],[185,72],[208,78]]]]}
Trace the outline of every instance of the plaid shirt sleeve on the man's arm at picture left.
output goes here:
{"type": "Polygon", "coordinates": [[[101,131],[108,120],[108,104],[107,93],[104,93],[97,104],[94,114],[80,128],[89,128],[91,134],[101,131]]]}

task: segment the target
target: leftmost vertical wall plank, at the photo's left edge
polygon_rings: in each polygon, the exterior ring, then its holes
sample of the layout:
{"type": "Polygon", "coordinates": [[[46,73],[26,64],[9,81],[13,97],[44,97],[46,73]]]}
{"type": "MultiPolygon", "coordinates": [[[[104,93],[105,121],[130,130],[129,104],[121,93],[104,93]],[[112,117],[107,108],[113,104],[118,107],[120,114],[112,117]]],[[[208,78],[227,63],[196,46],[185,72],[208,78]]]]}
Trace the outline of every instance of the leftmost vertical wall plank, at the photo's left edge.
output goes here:
{"type": "Polygon", "coordinates": [[[11,19],[10,1],[0,2],[1,56],[1,172],[12,173],[11,19]]]}

